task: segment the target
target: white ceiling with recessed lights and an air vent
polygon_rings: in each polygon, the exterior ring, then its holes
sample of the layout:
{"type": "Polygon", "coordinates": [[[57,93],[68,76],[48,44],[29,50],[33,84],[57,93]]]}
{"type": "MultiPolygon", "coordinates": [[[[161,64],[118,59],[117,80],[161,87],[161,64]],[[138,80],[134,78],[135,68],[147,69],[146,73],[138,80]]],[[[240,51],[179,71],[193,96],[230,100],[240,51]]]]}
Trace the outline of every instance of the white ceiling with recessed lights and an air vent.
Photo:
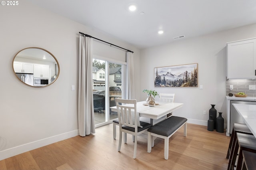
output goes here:
{"type": "Polygon", "coordinates": [[[138,48],[256,23],[256,0],[29,1],[138,48]],[[136,4],[135,12],[128,10],[130,4],[136,4]],[[160,29],[164,34],[158,35],[160,29]]]}

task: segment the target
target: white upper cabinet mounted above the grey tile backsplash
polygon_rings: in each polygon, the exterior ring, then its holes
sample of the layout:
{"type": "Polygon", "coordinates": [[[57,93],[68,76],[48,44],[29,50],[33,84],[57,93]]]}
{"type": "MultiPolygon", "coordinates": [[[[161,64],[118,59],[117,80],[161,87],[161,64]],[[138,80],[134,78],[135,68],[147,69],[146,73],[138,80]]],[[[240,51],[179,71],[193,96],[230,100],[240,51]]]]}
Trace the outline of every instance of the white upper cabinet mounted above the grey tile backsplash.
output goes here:
{"type": "Polygon", "coordinates": [[[256,78],[256,38],[227,43],[227,79],[256,78]]]}

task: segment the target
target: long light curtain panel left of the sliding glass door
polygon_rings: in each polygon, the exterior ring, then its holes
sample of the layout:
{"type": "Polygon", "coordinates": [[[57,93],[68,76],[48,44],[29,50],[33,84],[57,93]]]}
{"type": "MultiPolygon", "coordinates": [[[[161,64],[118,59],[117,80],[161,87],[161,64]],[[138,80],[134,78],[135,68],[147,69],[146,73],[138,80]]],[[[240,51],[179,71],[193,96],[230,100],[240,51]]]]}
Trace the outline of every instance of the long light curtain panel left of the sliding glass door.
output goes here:
{"type": "Polygon", "coordinates": [[[78,67],[78,129],[80,136],[95,133],[92,84],[92,38],[80,36],[78,67]]]}

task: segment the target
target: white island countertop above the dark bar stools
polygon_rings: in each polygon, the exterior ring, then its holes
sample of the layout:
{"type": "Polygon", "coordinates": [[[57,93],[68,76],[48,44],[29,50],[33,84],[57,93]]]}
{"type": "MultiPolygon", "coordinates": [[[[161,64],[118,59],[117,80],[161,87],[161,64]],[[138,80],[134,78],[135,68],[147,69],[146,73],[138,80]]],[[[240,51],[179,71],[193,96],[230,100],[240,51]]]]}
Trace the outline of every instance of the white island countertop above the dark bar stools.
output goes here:
{"type": "Polygon", "coordinates": [[[236,111],[243,117],[244,123],[256,136],[256,105],[234,104],[236,111]]]}

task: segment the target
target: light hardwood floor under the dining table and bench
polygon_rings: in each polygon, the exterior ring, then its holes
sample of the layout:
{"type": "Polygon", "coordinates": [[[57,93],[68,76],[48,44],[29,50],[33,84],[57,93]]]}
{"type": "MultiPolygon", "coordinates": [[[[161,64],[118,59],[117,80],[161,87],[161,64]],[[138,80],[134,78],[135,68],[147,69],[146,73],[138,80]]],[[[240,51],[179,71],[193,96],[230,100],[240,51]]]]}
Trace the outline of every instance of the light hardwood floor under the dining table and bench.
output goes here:
{"type": "Polygon", "coordinates": [[[226,153],[230,137],[207,127],[188,124],[169,140],[169,159],[164,159],[164,140],[157,138],[151,153],[147,139],[138,137],[137,157],[133,159],[134,142],[127,135],[117,152],[119,130],[113,139],[112,124],[96,128],[95,134],[75,136],[0,161],[0,170],[226,170],[226,153]]]}

